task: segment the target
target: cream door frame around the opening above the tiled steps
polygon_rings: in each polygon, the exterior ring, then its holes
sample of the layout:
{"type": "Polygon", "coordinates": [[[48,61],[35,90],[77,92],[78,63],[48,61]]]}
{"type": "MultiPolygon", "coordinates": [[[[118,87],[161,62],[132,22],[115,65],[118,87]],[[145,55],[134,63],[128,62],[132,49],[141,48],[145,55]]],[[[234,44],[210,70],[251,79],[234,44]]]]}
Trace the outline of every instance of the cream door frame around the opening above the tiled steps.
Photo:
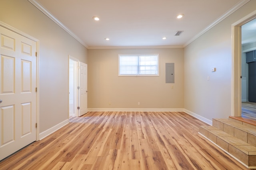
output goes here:
{"type": "Polygon", "coordinates": [[[232,77],[231,77],[231,116],[241,117],[242,86],[242,28],[245,23],[256,18],[256,10],[232,24],[232,77]]]}

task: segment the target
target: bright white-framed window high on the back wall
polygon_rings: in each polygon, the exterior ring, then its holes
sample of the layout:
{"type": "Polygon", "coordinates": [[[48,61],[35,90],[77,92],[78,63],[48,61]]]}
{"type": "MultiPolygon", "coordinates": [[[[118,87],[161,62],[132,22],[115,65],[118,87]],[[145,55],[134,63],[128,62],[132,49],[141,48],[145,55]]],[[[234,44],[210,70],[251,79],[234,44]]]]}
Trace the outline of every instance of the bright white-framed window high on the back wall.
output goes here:
{"type": "Polygon", "coordinates": [[[159,76],[158,54],[119,55],[119,76],[159,76]]]}

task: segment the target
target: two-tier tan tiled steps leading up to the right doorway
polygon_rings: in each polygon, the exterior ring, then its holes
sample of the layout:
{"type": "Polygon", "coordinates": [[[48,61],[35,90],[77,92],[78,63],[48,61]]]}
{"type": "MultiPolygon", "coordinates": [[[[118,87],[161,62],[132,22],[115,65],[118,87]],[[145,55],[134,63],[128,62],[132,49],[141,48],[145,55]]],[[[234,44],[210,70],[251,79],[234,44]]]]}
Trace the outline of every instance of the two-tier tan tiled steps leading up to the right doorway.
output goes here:
{"type": "Polygon", "coordinates": [[[247,168],[256,168],[256,128],[229,119],[213,119],[212,124],[200,126],[199,133],[247,168]]]}

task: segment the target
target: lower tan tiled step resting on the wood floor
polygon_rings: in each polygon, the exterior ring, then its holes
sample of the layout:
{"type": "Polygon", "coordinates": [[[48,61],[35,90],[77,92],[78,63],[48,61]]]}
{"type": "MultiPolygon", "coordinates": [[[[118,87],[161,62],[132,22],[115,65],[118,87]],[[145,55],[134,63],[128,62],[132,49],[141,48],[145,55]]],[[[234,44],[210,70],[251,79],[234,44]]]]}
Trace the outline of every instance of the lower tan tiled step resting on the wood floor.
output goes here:
{"type": "MultiPolygon", "coordinates": [[[[225,122],[226,124],[228,121],[224,120],[222,122],[225,122]]],[[[223,124],[222,126],[219,122],[215,123],[218,128],[213,126],[200,126],[199,133],[232,156],[236,157],[248,168],[256,168],[256,147],[222,131],[222,127],[225,129],[226,125],[223,124]]]]}

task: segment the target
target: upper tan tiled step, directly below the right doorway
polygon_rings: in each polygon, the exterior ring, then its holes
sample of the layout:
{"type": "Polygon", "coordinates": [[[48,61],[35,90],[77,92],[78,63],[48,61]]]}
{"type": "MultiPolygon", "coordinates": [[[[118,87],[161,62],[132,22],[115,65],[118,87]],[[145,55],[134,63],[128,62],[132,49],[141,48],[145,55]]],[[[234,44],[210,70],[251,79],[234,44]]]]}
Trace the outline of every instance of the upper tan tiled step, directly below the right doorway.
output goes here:
{"type": "Polygon", "coordinates": [[[212,126],[256,147],[256,128],[230,119],[212,119],[212,126]]]}

